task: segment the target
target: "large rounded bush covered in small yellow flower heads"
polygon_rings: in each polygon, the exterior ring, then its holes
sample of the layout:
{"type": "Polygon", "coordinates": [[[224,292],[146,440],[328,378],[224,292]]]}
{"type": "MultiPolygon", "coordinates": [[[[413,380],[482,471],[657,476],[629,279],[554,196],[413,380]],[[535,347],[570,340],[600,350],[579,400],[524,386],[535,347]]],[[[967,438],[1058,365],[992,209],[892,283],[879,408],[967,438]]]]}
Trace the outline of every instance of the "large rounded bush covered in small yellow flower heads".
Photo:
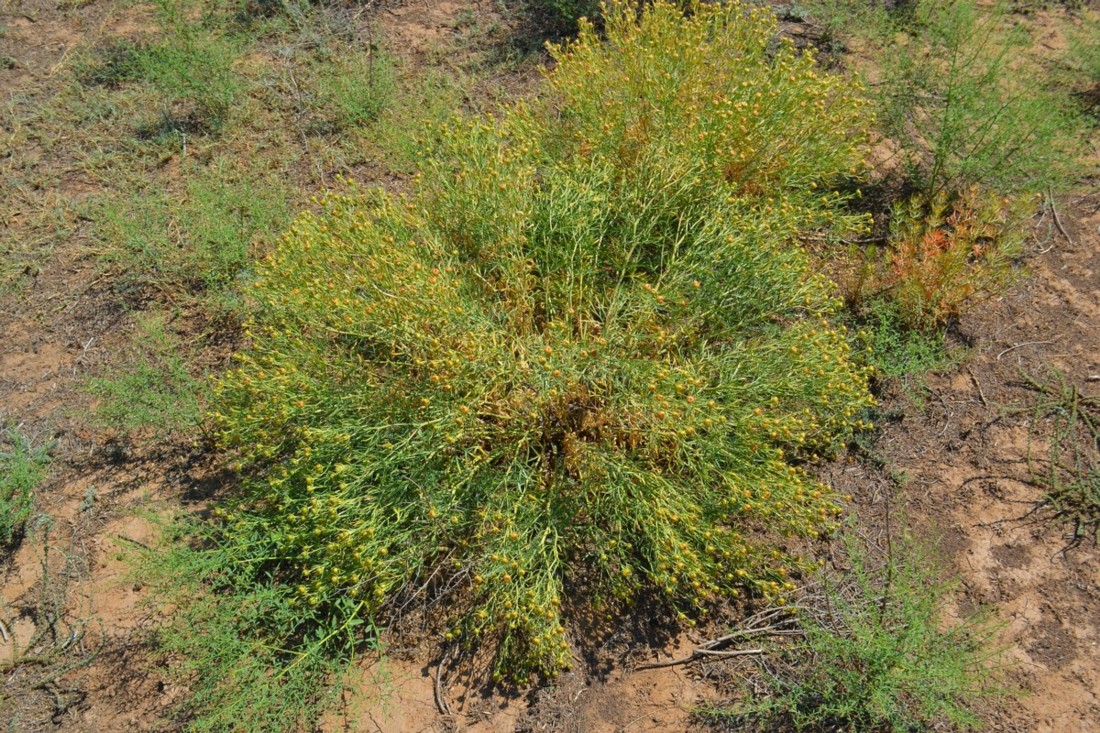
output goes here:
{"type": "Polygon", "coordinates": [[[218,390],[231,521],[304,604],[446,597],[499,674],[566,667],[564,615],[781,595],[836,507],[799,460],[869,404],[796,245],[868,112],[737,3],[606,11],[544,94],[459,121],[406,197],[305,215],[218,390]]]}

